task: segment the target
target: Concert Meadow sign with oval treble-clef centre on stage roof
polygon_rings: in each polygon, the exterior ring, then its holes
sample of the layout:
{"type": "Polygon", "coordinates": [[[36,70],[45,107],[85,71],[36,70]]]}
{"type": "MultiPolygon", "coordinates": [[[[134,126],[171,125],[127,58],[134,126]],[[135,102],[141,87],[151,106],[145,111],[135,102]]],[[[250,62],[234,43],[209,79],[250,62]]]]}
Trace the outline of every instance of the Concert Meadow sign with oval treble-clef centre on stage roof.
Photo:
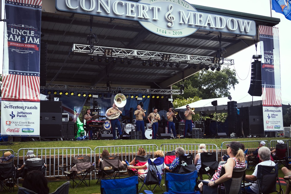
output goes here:
{"type": "Polygon", "coordinates": [[[254,36],[255,21],[198,12],[183,0],[56,0],[62,12],[136,20],[157,35],[188,36],[198,29],[254,36]]]}

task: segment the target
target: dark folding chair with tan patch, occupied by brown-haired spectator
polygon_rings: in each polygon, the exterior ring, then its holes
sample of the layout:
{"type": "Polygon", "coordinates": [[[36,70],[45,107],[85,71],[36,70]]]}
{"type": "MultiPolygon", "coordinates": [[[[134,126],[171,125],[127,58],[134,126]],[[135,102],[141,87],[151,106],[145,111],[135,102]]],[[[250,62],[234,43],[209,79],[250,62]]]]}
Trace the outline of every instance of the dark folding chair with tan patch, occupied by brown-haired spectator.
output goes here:
{"type": "Polygon", "coordinates": [[[97,172],[97,182],[101,179],[115,179],[116,176],[119,176],[119,170],[123,170],[123,163],[119,160],[119,156],[102,156],[102,160],[100,162],[100,168],[97,172]]]}

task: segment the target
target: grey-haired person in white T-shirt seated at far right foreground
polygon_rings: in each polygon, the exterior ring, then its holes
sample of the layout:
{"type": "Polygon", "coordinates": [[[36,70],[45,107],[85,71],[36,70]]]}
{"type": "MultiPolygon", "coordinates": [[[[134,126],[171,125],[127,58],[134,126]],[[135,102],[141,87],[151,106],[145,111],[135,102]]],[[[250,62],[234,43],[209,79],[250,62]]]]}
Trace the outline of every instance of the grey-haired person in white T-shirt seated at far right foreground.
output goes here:
{"type": "MultiPolygon", "coordinates": [[[[258,150],[258,155],[260,160],[262,161],[261,163],[258,163],[258,165],[265,165],[265,166],[275,166],[275,163],[271,161],[271,151],[269,148],[262,146],[258,150]]],[[[246,179],[251,180],[251,181],[256,181],[257,180],[257,172],[258,172],[258,165],[255,167],[255,171],[253,172],[252,175],[246,175],[246,179]]],[[[259,192],[259,186],[256,183],[253,183],[251,186],[249,186],[246,190],[249,193],[258,193],[259,192]]]]}

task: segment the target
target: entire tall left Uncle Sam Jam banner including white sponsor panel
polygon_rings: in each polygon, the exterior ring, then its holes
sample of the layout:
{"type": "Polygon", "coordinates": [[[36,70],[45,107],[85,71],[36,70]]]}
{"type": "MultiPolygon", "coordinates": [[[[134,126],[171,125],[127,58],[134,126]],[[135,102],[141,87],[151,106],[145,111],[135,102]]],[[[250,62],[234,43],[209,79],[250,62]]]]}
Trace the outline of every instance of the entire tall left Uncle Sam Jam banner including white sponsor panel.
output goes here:
{"type": "Polygon", "coordinates": [[[40,134],[42,1],[5,1],[1,135],[40,134]]]}

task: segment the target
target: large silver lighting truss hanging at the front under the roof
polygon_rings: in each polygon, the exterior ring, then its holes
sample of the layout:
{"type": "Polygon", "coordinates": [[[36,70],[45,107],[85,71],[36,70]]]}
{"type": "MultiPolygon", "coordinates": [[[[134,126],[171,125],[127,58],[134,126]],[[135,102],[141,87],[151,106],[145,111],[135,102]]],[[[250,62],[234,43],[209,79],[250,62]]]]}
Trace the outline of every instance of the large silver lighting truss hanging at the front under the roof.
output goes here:
{"type": "MultiPolygon", "coordinates": [[[[72,52],[74,53],[87,53],[88,55],[103,55],[104,50],[109,49],[108,47],[98,47],[93,46],[92,49],[90,45],[79,45],[73,44],[72,52]]],[[[120,49],[111,48],[112,57],[124,57],[131,58],[134,60],[161,60],[163,54],[170,54],[170,61],[176,61],[183,64],[187,63],[203,63],[203,64],[213,64],[213,57],[207,56],[196,56],[196,55],[185,55],[185,54],[175,54],[175,53],[162,53],[155,51],[142,51],[142,50],[132,50],[132,49],[120,49]]],[[[234,65],[233,59],[224,58],[223,65],[234,65]]]]}

